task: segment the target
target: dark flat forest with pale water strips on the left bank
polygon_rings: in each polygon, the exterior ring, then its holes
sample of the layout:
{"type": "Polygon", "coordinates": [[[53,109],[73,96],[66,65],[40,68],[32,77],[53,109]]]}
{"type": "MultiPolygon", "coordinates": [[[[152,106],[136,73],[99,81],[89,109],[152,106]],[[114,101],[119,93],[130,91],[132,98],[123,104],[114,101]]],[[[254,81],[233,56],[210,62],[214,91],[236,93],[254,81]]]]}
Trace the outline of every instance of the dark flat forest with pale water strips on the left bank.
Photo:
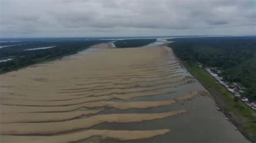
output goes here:
{"type": "Polygon", "coordinates": [[[0,73],[16,70],[35,63],[60,58],[64,55],[75,54],[92,45],[104,42],[103,40],[24,40],[18,42],[3,42],[0,46],[13,45],[0,48],[0,60],[11,58],[13,60],[0,62],[0,73]],[[15,46],[16,45],[16,46],[15,46]],[[50,47],[27,51],[25,49],[50,47]]]}

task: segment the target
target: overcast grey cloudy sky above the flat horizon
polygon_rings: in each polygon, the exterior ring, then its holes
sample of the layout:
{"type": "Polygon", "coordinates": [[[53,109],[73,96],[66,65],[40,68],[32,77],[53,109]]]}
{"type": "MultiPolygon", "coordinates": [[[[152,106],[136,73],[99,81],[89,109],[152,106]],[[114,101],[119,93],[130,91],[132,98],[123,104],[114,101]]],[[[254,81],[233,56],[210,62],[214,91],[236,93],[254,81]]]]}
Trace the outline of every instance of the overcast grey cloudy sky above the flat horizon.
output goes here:
{"type": "Polygon", "coordinates": [[[256,34],[255,0],[0,0],[3,37],[256,34]]]}

